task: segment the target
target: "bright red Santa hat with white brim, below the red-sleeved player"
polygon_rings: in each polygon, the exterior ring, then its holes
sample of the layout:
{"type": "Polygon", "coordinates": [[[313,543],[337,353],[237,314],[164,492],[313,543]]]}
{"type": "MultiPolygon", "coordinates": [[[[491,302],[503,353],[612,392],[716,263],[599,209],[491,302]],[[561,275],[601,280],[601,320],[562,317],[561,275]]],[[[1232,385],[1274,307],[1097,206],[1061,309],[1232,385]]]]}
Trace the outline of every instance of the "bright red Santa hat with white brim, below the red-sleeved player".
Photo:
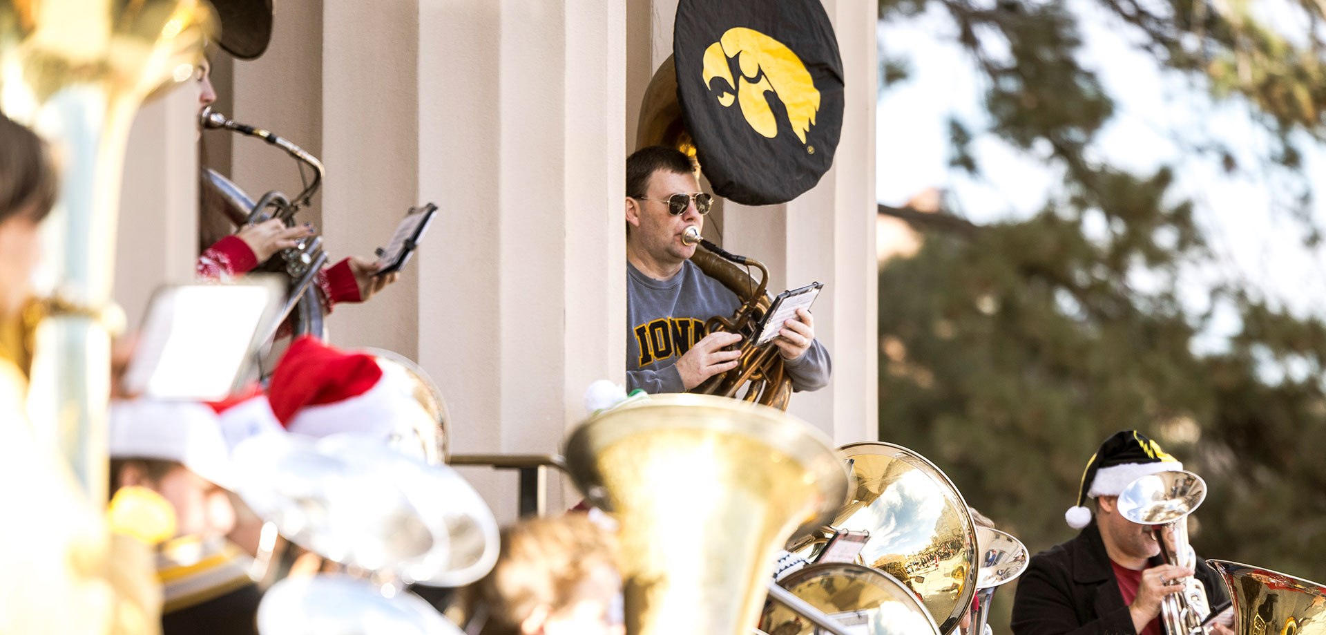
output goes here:
{"type": "Polygon", "coordinates": [[[342,351],[313,337],[296,339],[268,386],[285,430],[309,436],[362,433],[385,441],[428,420],[414,386],[373,355],[342,351]]]}

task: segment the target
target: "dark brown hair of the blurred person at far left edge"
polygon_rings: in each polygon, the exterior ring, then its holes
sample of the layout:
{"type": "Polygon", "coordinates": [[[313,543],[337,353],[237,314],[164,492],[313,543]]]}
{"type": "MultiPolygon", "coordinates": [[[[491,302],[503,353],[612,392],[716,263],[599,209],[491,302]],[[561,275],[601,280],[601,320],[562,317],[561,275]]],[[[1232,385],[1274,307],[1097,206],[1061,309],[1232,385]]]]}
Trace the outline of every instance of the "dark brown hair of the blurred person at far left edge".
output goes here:
{"type": "Polygon", "coordinates": [[[19,213],[41,221],[56,204],[56,191],[46,144],[0,113],[0,223],[19,213]]]}

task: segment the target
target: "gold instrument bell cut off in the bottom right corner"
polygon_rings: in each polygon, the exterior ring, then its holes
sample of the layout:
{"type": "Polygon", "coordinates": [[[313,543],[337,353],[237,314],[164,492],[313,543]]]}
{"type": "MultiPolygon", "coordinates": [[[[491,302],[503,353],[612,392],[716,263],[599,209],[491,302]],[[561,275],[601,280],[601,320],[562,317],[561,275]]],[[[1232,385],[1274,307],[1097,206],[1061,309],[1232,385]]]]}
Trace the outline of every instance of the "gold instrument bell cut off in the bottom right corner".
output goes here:
{"type": "Polygon", "coordinates": [[[1238,562],[1207,563],[1229,587],[1236,635],[1326,634],[1326,585],[1238,562]]]}

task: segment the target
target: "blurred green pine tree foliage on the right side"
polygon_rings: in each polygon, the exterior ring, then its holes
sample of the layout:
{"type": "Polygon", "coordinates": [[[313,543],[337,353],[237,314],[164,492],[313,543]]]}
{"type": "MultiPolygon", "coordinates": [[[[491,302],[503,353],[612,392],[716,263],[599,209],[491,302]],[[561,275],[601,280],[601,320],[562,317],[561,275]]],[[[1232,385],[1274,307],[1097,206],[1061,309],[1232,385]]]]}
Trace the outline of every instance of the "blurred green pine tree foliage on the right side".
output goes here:
{"type": "MultiPolygon", "coordinates": [[[[1288,1],[1310,27],[1294,38],[1238,0],[1073,7],[1115,16],[1192,90],[1248,105],[1274,142],[1266,164],[1297,178],[1293,211],[1306,219],[1299,144],[1326,139],[1326,5],[1288,1]]],[[[1326,582],[1326,323],[1227,281],[1211,293],[1237,313],[1236,333],[1216,351],[1193,346],[1213,317],[1180,302],[1179,272],[1217,264],[1200,211],[1175,195],[1171,167],[1132,174],[1089,151],[1115,106],[1078,61],[1083,17],[1067,3],[879,4],[903,24],[941,9],[987,80],[988,121],[949,121],[951,167],[980,175],[968,146],[993,135],[1062,179],[1026,220],[959,232],[951,211],[898,213],[924,241],[879,276],[880,439],[932,459],[1038,551],[1074,534],[1063,512],[1101,440],[1138,428],[1207,479],[1200,554],[1326,582]]],[[[1189,148],[1245,168],[1227,148],[1189,148]]],[[[1305,225],[1313,245],[1319,232],[1305,225]]],[[[1012,597],[996,595],[996,632],[1008,632],[1012,597]]]]}

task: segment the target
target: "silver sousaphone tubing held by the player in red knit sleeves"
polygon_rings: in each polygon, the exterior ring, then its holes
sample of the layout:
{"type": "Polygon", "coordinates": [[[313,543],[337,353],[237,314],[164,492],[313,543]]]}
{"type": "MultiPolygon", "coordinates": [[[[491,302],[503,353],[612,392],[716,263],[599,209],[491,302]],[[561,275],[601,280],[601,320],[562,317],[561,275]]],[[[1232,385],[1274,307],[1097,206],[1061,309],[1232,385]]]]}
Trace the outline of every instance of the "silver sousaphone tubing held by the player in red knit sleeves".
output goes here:
{"type": "MultiPolygon", "coordinates": [[[[300,174],[304,175],[304,166],[313,171],[313,176],[293,199],[281,192],[267,192],[259,200],[253,200],[239,186],[215,170],[203,168],[200,187],[203,190],[203,212],[206,223],[243,227],[263,223],[271,219],[281,219],[286,227],[294,227],[294,215],[301,208],[308,207],[322,184],[322,162],[290,141],[277,137],[268,130],[237,123],[225,115],[216,113],[211,106],[204,107],[199,114],[199,126],[204,130],[229,130],[245,137],[256,137],[284,150],[288,155],[301,163],[300,174]]],[[[229,233],[228,231],[225,233],[229,233]]],[[[215,239],[217,236],[208,236],[215,239]]],[[[206,245],[204,245],[206,247],[206,245]]],[[[313,284],[318,272],[326,265],[328,256],[322,251],[322,237],[313,236],[300,241],[298,245],[282,249],[267,262],[259,265],[260,270],[284,272],[290,278],[289,293],[285,306],[281,310],[277,325],[290,318],[293,335],[316,335],[326,339],[326,325],[324,322],[325,308],[317,286],[313,284]]],[[[276,333],[271,333],[268,339],[276,333]]]]}

